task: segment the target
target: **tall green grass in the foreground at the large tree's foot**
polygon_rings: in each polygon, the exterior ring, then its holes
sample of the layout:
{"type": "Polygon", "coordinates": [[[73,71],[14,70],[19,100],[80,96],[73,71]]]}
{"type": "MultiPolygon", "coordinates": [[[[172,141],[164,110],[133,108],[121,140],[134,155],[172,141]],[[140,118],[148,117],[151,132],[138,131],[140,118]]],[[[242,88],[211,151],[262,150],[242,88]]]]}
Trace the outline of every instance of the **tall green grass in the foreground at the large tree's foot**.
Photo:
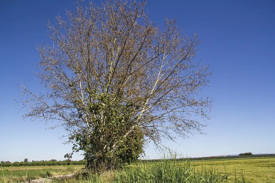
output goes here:
{"type": "MultiPolygon", "coordinates": [[[[56,180],[58,182],[58,180],[56,180]]],[[[60,181],[59,181],[60,182],[60,181]]],[[[66,183],[245,183],[241,170],[227,173],[210,168],[193,166],[190,161],[162,159],[161,162],[138,162],[121,170],[103,174],[78,174],[78,177],[63,180],[66,183]]]]}

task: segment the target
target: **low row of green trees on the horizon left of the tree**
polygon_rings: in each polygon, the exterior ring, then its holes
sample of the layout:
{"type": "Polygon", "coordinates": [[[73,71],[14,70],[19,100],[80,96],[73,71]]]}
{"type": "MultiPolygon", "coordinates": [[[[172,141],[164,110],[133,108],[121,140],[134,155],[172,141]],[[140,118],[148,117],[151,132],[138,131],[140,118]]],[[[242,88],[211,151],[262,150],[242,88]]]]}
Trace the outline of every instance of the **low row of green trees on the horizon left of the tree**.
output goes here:
{"type": "Polygon", "coordinates": [[[31,161],[31,162],[9,162],[9,161],[1,161],[2,167],[7,166],[62,166],[62,165],[85,165],[85,160],[79,160],[79,161],[57,161],[57,160],[41,160],[41,161],[31,161]]]}

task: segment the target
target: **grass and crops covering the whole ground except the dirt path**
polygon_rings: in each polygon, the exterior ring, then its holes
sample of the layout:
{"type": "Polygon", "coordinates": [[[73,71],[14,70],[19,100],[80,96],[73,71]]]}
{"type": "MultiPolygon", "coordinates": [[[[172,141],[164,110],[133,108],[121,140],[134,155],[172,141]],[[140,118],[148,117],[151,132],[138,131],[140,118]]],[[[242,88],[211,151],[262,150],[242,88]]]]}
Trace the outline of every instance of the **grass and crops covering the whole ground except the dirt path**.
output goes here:
{"type": "MultiPolygon", "coordinates": [[[[17,182],[21,176],[35,179],[54,175],[83,172],[84,166],[31,166],[2,167],[0,183],[17,182]],[[81,171],[79,171],[81,170],[81,171]],[[5,181],[4,181],[5,180],[5,181]]],[[[275,183],[275,157],[250,157],[220,160],[167,160],[159,162],[139,161],[119,170],[98,174],[78,173],[66,180],[54,179],[53,182],[253,182],[275,183]]]]}

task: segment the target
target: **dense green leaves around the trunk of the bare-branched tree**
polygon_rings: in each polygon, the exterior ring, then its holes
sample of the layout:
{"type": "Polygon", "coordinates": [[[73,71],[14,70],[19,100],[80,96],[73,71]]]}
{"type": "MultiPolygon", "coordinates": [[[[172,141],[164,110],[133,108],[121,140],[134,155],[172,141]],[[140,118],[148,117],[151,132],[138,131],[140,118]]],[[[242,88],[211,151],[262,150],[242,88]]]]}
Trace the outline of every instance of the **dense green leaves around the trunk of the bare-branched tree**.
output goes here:
{"type": "Polygon", "coordinates": [[[108,170],[122,164],[136,161],[143,152],[143,133],[140,128],[135,128],[129,135],[125,133],[134,125],[132,121],[139,106],[131,102],[116,100],[117,96],[107,94],[91,95],[97,101],[89,104],[89,110],[94,114],[91,124],[94,125],[93,133],[87,136],[78,133],[70,138],[75,140],[74,150],[84,151],[89,168],[108,170]],[[98,117],[104,116],[102,122],[98,117]]]}

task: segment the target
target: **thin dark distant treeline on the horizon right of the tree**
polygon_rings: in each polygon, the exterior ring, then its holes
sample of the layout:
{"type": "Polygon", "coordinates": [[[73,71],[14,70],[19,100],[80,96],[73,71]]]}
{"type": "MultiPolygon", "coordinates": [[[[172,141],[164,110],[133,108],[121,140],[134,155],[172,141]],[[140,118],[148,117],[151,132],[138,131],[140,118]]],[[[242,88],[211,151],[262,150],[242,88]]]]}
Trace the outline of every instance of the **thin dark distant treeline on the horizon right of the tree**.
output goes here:
{"type": "MultiPolygon", "coordinates": [[[[208,156],[208,157],[201,157],[201,158],[178,158],[177,161],[182,160],[212,160],[212,159],[233,159],[233,158],[249,158],[249,157],[270,157],[275,156],[275,154],[259,154],[259,155],[246,155],[246,156],[208,156]]],[[[154,160],[141,160],[142,162],[159,162],[161,159],[154,159],[154,160]]]]}

